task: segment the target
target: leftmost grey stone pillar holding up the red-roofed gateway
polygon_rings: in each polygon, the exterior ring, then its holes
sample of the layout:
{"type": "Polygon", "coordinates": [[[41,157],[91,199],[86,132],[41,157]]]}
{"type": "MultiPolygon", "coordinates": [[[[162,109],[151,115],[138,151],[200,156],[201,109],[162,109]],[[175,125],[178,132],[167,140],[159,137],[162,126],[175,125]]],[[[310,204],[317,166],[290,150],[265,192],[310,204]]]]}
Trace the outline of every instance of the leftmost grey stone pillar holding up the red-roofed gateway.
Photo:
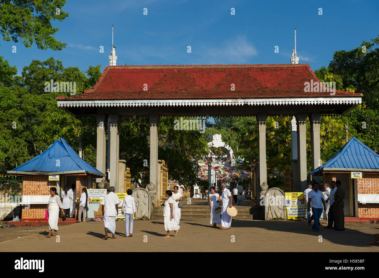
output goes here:
{"type": "MultiPolygon", "coordinates": [[[[106,157],[106,137],[107,117],[105,114],[96,115],[96,169],[105,174],[105,157],[106,157]]],[[[99,183],[102,178],[96,178],[99,183]]]]}

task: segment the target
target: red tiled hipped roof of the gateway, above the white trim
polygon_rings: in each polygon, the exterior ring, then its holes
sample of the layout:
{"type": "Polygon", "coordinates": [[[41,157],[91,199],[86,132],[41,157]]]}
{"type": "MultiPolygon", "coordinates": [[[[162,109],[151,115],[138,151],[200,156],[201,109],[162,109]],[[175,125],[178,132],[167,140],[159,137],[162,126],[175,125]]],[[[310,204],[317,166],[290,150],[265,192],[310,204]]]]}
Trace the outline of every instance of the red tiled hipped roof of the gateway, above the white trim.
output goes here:
{"type": "MultiPolygon", "coordinates": [[[[93,89],[58,99],[330,97],[329,92],[304,92],[312,79],[319,81],[308,64],[107,66],[93,89]]],[[[333,97],[360,95],[336,90],[333,97]]]]}

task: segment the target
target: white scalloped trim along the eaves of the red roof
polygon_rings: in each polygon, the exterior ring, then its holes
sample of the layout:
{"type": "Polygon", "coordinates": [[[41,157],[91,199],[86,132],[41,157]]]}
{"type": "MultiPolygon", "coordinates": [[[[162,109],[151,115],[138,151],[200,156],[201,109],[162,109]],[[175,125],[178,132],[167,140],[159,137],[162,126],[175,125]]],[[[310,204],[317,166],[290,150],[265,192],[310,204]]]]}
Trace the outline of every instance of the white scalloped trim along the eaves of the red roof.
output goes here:
{"type": "Polygon", "coordinates": [[[244,98],[244,99],[196,99],[186,100],[57,100],[59,107],[129,107],[129,106],[223,106],[223,105],[319,105],[360,104],[362,97],[320,98],[244,98]]]}

